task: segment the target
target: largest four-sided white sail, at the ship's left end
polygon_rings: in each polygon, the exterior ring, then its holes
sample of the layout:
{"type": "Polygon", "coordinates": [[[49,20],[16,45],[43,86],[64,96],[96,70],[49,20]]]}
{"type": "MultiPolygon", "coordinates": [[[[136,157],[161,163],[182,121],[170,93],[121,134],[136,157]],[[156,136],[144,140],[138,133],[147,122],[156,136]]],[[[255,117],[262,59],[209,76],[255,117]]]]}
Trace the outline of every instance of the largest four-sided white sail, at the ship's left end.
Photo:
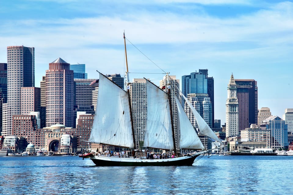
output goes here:
{"type": "Polygon", "coordinates": [[[89,141],[134,147],[128,94],[101,73],[96,113],[89,141]]]}

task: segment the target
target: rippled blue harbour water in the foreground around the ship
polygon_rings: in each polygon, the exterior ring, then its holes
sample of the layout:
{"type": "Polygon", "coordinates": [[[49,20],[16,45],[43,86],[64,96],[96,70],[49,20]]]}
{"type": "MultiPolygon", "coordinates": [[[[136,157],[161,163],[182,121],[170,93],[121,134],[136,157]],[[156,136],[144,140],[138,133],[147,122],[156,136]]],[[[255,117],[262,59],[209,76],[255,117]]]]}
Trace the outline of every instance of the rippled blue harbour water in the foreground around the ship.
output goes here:
{"type": "Polygon", "coordinates": [[[212,156],[195,166],[96,167],[77,156],[0,157],[0,194],[293,194],[293,156],[212,156]]]}

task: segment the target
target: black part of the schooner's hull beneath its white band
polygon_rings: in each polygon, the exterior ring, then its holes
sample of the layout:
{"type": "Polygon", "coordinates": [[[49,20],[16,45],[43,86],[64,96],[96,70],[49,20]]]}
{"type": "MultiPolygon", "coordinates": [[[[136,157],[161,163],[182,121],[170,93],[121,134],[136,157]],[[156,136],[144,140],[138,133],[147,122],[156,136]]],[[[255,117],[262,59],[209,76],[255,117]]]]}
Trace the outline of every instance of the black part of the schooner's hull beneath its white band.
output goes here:
{"type": "Polygon", "coordinates": [[[187,158],[178,160],[172,159],[160,159],[156,160],[144,160],[144,161],[109,161],[103,159],[97,159],[95,157],[91,157],[90,159],[96,164],[96,166],[191,166],[197,156],[188,156],[187,158]]]}

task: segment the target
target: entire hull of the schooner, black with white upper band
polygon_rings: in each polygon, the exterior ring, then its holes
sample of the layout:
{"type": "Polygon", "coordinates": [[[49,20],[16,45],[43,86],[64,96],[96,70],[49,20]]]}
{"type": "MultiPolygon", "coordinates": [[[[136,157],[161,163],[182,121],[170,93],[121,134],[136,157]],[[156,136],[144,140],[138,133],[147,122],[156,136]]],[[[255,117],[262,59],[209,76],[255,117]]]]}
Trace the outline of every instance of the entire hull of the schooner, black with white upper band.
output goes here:
{"type": "Polygon", "coordinates": [[[90,159],[96,166],[191,166],[197,156],[183,156],[167,159],[140,159],[140,158],[117,158],[105,156],[92,156],[90,159]]]}

